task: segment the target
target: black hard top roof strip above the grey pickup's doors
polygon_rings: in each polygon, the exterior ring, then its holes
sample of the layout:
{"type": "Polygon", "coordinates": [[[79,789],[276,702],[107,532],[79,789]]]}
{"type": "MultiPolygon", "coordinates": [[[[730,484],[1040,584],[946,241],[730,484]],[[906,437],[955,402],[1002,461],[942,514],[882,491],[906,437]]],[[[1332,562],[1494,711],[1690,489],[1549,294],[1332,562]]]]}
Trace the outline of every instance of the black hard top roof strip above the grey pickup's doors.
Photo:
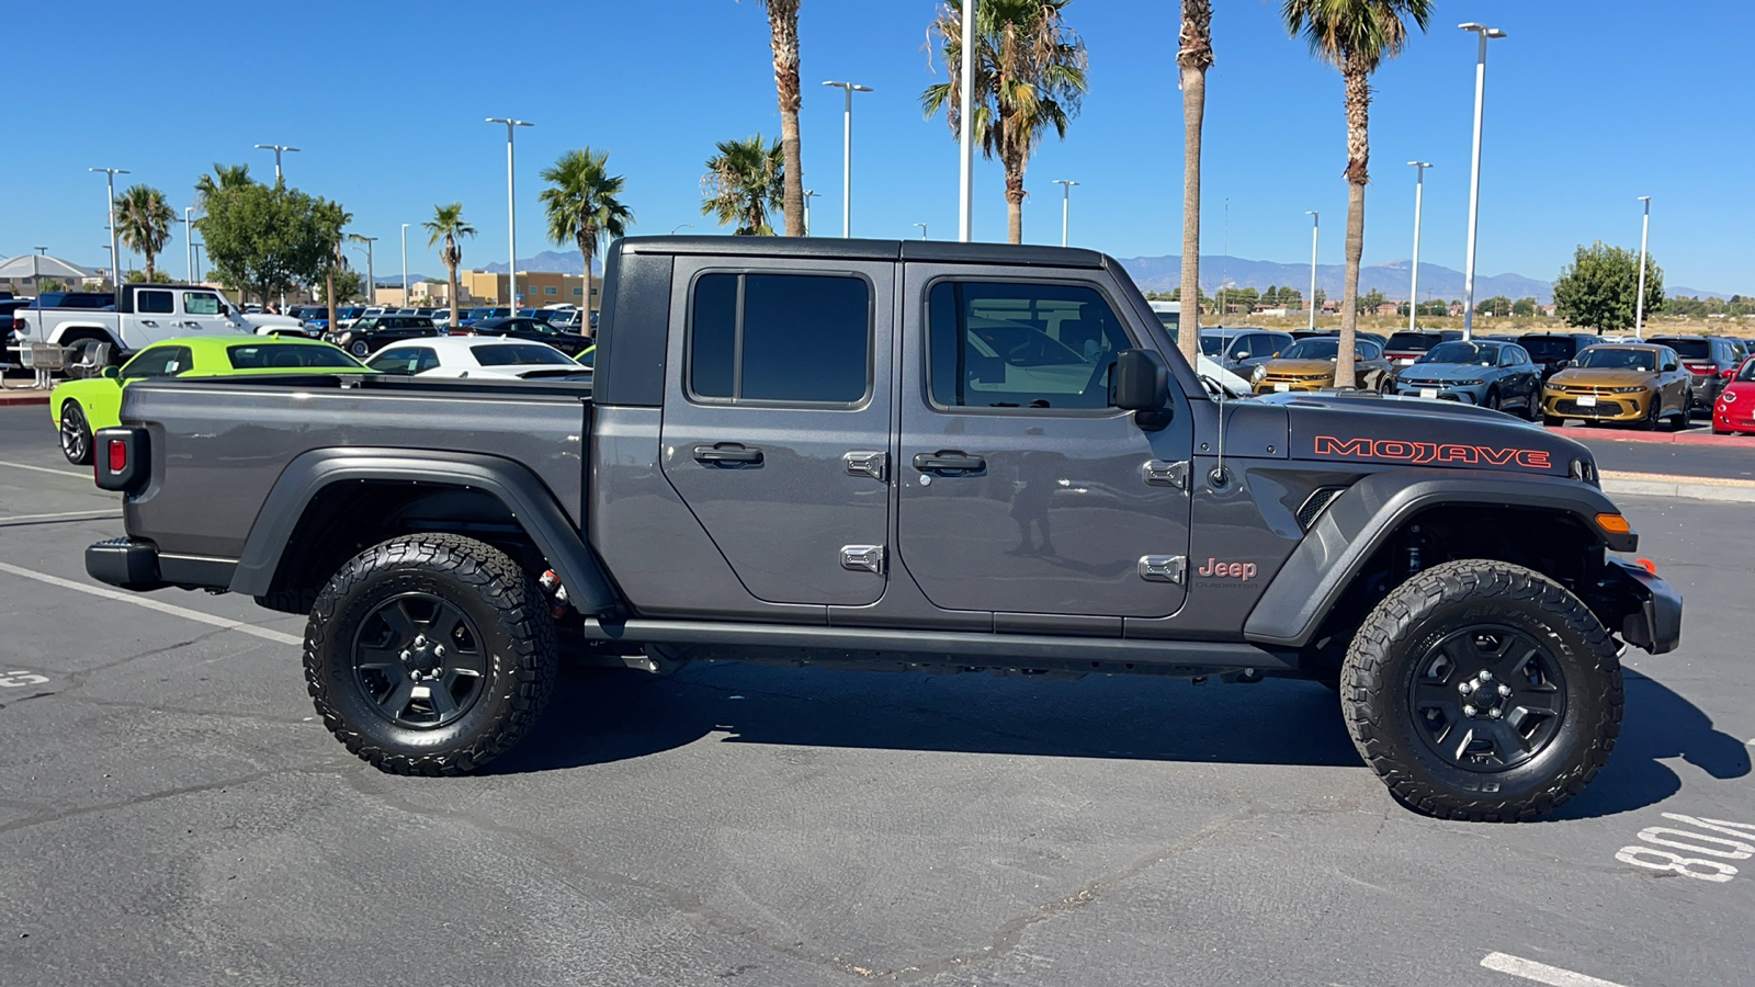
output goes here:
{"type": "Polygon", "coordinates": [[[1109,267],[1093,249],[955,241],[856,241],[841,237],[625,237],[627,253],[714,256],[807,256],[823,260],[913,260],[937,263],[1016,263],[1028,267],[1109,267]]]}

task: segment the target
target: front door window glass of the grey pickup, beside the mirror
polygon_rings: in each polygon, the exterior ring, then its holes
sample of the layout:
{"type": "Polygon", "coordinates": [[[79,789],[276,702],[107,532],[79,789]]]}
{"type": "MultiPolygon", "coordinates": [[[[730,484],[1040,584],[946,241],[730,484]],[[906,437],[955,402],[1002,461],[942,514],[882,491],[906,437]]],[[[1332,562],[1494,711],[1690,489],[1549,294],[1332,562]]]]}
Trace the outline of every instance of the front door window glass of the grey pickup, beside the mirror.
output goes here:
{"type": "Polygon", "coordinates": [[[1093,288],[941,281],[927,346],[939,407],[1106,409],[1132,339],[1093,288]]]}

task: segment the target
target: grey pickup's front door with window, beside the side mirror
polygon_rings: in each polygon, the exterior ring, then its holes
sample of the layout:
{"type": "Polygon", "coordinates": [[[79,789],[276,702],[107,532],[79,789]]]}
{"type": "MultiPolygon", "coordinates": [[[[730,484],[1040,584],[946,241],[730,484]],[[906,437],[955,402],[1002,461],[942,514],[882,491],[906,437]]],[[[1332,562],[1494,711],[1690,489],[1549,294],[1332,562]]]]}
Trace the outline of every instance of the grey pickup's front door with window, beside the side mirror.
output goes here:
{"type": "Polygon", "coordinates": [[[1157,335],[1093,274],[906,265],[899,558],[935,606],[1167,616],[1183,604],[1188,402],[1172,383],[1158,432],[1113,406],[1116,353],[1157,335]]]}

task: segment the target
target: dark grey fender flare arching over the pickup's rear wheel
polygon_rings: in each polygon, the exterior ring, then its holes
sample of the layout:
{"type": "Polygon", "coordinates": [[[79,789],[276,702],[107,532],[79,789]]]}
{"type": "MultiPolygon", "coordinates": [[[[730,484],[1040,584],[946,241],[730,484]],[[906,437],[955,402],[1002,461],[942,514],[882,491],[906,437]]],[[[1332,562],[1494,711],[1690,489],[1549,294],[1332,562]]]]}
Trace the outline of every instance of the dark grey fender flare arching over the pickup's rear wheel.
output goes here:
{"type": "Polygon", "coordinates": [[[360,479],[481,490],[505,506],[555,567],[569,601],[586,615],[611,613],[618,597],[579,529],[525,465],[490,455],[430,450],[312,450],[281,472],[251,525],[230,592],[267,595],[305,509],[325,488],[360,479]]]}

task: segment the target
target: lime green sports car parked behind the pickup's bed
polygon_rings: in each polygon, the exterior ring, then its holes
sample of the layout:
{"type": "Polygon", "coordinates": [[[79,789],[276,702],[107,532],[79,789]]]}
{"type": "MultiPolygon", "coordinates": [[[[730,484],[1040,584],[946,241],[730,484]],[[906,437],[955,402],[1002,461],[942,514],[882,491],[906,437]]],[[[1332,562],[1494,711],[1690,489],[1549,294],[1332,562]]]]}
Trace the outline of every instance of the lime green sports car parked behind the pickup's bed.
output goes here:
{"type": "Polygon", "coordinates": [[[121,425],[121,392],[147,378],[226,378],[260,374],[372,374],[342,349],[290,335],[216,335],[167,339],[107,367],[104,376],[63,381],[49,395],[49,416],[61,437],[61,455],[74,465],[91,462],[91,432],[121,425]]]}

